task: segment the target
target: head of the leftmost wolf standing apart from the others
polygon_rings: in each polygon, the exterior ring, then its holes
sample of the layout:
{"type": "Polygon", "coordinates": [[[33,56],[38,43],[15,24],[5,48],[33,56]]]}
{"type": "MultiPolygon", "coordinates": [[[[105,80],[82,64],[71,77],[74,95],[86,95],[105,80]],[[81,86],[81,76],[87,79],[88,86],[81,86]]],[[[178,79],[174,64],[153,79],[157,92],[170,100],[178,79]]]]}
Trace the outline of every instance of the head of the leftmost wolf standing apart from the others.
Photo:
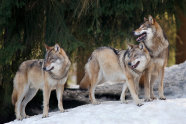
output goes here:
{"type": "Polygon", "coordinates": [[[53,47],[49,47],[46,44],[44,46],[46,48],[46,54],[43,70],[58,73],[65,64],[66,54],[58,44],[53,47]]]}

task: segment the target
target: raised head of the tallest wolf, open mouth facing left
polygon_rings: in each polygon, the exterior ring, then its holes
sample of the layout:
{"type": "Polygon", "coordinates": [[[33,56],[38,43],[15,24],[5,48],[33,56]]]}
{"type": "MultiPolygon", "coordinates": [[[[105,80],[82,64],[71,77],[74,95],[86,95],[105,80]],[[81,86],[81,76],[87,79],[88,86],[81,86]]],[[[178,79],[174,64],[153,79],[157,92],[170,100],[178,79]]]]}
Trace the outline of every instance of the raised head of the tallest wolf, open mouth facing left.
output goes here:
{"type": "Polygon", "coordinates": [[[149,15],[148,19],[144,18],[144,23],[134,31],[134,35],[137,36],[136,41],[141,42],[152,39],[157,27],[158,24],[151,15],[149,15]]]}

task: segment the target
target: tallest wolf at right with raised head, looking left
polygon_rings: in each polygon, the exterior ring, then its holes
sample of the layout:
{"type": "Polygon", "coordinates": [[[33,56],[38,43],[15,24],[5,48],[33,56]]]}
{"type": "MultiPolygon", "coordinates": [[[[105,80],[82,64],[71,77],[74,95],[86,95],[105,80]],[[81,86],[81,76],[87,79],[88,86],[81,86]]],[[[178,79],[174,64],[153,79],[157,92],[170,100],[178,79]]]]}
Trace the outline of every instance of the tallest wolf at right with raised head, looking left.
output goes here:
{"type": "Polygon", "coordinates": [[[149,15],[144,23],[134,31],[138,36],[136,41],[143,42],[151,56],[151,66],[144,74],[145,100],[156,99],[153,94],[153,84],[159,82],[159,98],[165,100],[163,91],[164,68],[167,65],[169,42],[160,25],[149,15]],[[150,88],[149,88],[150,87],[150,88]]]}

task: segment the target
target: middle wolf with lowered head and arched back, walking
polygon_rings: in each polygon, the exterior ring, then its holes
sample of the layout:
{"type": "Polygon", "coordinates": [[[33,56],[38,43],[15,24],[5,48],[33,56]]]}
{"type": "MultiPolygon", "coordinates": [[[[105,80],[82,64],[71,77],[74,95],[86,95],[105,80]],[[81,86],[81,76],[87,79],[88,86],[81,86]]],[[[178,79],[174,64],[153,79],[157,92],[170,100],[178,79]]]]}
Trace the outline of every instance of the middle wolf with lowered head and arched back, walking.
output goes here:
{"type": "Polygon", "coordinates": [[[121,102],[125,103],[125,91],[129,88],[137,106],[143,105],[138,98],[135,83],[139,82],[143,71],[148,67],[150,54],[144,44],[128,45],[127,50],[100,47],[93,51],[85,65],[85,75],[80,82],[81,89],[89,88],[92,104],[100,104],[95,99],[95,88],[106,81],[122,82],[121,102]],[[126,83],[125,83],[126,82],[126,83]]]}

